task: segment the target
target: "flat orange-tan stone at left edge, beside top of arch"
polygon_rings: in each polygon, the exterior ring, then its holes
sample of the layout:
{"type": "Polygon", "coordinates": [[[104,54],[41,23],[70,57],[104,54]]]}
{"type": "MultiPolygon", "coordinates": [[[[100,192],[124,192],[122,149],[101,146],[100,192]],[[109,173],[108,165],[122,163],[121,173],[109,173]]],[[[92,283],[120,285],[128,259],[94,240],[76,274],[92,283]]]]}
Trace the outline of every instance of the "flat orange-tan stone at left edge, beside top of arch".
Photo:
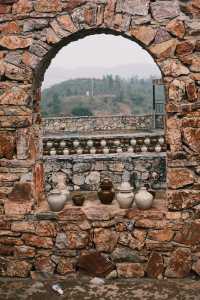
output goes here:
{"type": "Polygon", "coordinates": [[[32,38],[25,38],[15,35],[5,35],[0,37],[0,46],[7,49],[23,49],[32,44],[32,38]]]}

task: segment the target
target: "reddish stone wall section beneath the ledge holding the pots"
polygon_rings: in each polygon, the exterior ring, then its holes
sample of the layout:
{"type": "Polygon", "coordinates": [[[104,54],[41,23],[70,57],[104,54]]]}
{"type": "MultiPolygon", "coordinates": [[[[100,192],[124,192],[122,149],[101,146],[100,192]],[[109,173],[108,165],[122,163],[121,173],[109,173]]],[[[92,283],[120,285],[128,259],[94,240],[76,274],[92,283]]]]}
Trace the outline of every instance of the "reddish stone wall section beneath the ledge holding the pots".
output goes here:
{"type": "Polygon", "coordinates": [[[0,276],[67,275],[81,255],[95,250],[113,261],[114,278],[200,273],[200,223],[189,212],[66,206],[18,217],[9,211],[0,226],[0,276]]]}

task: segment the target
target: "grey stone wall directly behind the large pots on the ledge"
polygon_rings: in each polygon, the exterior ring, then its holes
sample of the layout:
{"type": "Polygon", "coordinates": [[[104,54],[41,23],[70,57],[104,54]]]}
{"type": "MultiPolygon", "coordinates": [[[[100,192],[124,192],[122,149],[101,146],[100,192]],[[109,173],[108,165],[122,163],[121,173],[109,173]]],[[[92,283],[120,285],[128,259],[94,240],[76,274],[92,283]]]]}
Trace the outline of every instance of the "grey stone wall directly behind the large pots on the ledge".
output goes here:
{"type": "Polygon", "coordinates": [[[96,191],[103,177],[110,177],[114,185],[122,180],[130,180],[139,187],[148,183],[152,188],[166,187],[166,155],[148,154],[148,156],[102,155],[71,156],[69,158],[46,158],[46,191],[56,188],[60,178],[64,178],[69,189],[96,191]]]}

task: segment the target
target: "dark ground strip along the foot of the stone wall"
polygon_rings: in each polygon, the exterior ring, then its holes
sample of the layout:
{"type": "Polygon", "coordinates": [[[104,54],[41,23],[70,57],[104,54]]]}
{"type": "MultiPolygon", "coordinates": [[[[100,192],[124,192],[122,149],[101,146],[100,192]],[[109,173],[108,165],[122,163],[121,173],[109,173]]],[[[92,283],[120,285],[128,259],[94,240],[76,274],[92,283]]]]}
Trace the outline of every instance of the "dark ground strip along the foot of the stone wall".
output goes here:
{"type": "Polygon", "coordinates": [[[0,300],[198,300],[200,281],[196,280],[107,280],[103,285],[90,283],[90,278],[8,280],[0,279],[0,300]],[[64,295],[51,286],[60,283],[64,295]]]}

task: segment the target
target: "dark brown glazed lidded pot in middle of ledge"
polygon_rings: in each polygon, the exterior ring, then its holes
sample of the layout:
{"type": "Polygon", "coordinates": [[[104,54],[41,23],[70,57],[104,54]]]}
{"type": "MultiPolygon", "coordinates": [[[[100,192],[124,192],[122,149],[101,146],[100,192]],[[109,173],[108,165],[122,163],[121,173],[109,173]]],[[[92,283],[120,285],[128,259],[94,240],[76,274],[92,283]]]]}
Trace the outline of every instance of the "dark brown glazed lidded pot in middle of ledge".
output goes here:
{"type": "Polygon", "coordinates": [[[113,189],[112,181],[109,178],[104,178],[100,183],[98,190],[98,197],[101,203],[103,204],[111,204],[114,197],[115,192],[113,189]]]}

